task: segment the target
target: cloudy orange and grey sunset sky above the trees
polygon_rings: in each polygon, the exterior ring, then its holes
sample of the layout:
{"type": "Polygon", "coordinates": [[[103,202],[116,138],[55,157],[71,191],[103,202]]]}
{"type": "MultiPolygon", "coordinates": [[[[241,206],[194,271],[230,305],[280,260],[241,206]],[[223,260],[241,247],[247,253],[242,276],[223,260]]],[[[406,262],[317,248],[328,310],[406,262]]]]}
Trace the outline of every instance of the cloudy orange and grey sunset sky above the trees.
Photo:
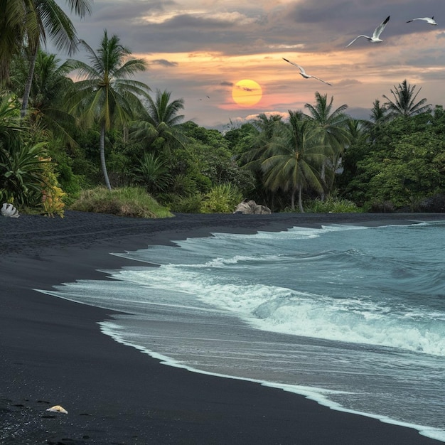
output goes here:
{"type": "MultiPolygon", "coordinates": [[[[119,36],[148,65],[136,80],[153,95],[183,99],[184,119],[201,127],[224,131],[259,113],[286,117],[315,104],[316,92],[333,97],[334,109],[347,104],[352,117],[368,119],[373,102],[392,98],[404,80],[420,89],[418,100],[445,105],[444,0],[95,0],[90,16],[70,18],[94,49],[104,30],[119,36]],[[382,43],[359,38],[345,48],[387,16],[382,43]],[[437,26],[407,23],[431,16],[437,26]],[[283,58],[331,86],[304,79],[283,58]],[[256,104],[237,103],[252,94],[256,104]]],[[[85,56],[80,50],[73,58],[85,56]]]]}

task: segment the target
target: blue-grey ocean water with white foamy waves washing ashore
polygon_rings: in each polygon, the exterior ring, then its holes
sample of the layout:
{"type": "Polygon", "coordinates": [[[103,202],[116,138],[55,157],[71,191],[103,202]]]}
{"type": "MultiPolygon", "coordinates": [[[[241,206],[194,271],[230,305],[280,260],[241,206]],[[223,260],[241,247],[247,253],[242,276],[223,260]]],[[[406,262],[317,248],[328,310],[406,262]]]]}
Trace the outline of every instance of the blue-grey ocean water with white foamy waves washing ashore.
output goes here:
{"type": "Polygon", "coordinates": [[[46,294],[122,311],[102,332],[445,441],[445,222],[213,233],[46,294]]]}

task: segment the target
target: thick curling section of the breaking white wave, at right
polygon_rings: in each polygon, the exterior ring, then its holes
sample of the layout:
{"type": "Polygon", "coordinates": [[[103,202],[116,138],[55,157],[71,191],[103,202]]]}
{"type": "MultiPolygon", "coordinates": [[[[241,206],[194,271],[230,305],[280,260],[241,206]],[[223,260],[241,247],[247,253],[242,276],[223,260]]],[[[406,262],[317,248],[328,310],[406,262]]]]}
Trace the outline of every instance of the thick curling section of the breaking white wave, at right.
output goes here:
{"type": "Polygon", "coordinates": [[[445,356],[443,320],[431,321],[428,313],[404,320],[403,314],[388,308],[367,306],[363,301],[348,301],[342,307],[330,299],[294,299],[278,305],[274,301],[255,309],[261,319],[251,323],[267,331],[445,356]]]}

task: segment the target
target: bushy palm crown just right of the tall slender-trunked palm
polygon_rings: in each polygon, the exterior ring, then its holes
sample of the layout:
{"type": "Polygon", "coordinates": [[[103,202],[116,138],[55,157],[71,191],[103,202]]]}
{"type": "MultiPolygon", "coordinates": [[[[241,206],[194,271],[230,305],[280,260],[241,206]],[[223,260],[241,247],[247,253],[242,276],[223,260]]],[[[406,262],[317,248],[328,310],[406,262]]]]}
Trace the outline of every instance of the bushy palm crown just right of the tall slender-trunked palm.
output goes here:
{"type": "Polygon", "coordinates": [[[146,108],[134,123],[130,137],[149,146],[154,151],[171,151],[183,146],[185,136],[181,129],[184,119],[178,112],[184,108],[184,100],[171,101],[171,92],[156,90],[156,97],[146,97],[146,108]]]}

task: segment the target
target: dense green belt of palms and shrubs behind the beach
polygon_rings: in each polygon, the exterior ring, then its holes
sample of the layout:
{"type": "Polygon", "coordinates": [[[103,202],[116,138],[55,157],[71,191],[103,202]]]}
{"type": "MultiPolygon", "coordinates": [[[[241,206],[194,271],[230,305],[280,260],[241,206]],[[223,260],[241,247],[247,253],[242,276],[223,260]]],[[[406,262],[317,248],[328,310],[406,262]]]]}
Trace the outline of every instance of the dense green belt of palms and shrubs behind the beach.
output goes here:
{"type": "Polygon", "coordinates": [[[0,200],[21,213],[163,218],[232,213],[242,200],[273,212],[445,210],[445,112],[407,80],[375,99],[369,119],[315,92],[304,109],[220,132],[137,80],[146,63],[119,36],[105,30],[93,49],[45,5],[0,0],[10,17],[0,14],[0,200]],[[46,36],[88,63],[45,53],[46,36]]]}

